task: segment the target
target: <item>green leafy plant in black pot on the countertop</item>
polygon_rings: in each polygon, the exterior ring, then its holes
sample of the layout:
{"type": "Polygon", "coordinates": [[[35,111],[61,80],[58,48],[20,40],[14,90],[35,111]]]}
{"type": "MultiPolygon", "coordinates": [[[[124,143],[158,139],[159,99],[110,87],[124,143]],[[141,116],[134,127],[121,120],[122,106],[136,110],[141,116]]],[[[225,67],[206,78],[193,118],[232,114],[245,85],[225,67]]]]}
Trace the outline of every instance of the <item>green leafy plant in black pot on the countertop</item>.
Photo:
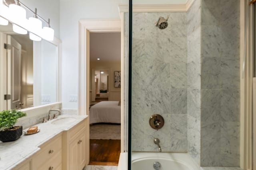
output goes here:
{"type": "Polygon", "coordinates": [[[22,126],[14,126],[20,117],[26,113],[12,109],[0,111],[0,141],[16,141],[22,135],[22,126]]]}

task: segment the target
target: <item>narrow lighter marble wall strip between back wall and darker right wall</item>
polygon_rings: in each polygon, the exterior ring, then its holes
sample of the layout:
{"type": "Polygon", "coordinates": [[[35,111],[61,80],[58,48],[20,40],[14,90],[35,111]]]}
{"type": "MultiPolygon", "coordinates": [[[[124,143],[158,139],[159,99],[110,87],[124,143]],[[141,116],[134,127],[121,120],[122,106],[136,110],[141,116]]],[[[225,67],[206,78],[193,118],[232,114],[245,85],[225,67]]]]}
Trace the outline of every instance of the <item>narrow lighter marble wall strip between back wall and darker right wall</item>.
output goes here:
{"type": "Polygon", "coordinates": [[[201,0],[187,12],[188,33],[188,153],[200,164],[201,121],[201,0]]]}

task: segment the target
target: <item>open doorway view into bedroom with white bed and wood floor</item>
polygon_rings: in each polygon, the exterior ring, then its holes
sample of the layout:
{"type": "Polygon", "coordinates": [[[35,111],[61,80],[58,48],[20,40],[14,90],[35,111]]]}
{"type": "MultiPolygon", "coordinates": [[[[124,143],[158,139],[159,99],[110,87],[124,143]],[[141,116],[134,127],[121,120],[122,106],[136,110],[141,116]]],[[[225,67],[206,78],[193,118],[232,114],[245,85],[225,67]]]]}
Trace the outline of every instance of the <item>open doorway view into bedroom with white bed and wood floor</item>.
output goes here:
{"type": "Polygon", "coordinates": [[[121,33],[90,32],[90,162],[118,165],[121,152],[121,33]],[[118,79],[119,78],[119,79],[118,79]]]}

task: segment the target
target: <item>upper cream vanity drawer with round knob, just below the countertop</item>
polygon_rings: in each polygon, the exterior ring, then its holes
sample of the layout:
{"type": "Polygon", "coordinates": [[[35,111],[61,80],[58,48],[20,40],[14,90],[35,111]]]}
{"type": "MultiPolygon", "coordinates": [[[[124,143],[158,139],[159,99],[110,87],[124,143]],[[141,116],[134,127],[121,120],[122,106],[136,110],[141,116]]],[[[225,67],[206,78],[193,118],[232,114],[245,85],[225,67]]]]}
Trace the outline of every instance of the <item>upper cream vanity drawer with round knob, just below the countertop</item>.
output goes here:
{"type": "MultiPolygon", "coordinates": [[[[41,164],[48,160],[52,160],[56,154],[62,149],[62,136],[58,136],[46,144],[42,145],[41,150],[34,156],[33,165],[40,167],[41,164]]],[[[34,168],[36,168],[34,166],[34,168]]],[[[37,168],[36,168],[37,169],[37,168]]]]}

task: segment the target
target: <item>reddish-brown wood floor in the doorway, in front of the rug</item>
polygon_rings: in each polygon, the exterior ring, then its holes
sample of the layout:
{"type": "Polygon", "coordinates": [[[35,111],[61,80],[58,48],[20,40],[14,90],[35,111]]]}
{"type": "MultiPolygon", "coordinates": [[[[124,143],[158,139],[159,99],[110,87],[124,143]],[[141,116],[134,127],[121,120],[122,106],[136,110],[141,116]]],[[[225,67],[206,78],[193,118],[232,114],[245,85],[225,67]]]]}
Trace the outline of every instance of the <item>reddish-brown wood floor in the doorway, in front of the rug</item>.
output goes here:
{"type": "Polygon", "coordinates": [[[90,139],[89,165],[118,165],[121,140],[90,139]]]}

